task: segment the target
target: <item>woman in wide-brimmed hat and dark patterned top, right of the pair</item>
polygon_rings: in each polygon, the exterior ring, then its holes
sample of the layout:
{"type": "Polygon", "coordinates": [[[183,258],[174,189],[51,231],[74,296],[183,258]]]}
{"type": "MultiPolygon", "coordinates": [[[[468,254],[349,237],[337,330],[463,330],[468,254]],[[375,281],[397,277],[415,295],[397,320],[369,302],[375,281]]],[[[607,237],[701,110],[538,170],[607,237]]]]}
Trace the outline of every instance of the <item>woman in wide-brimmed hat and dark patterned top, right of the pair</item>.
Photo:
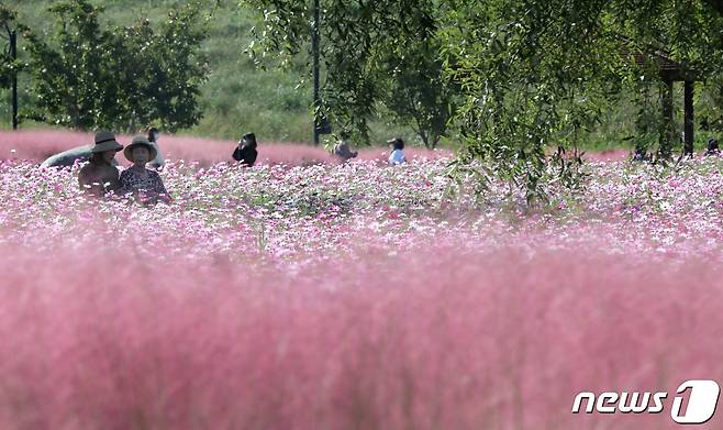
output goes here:
{"type": "Polygon", "coordinates": [[[170,202],[158,173],[146,168],[146,163],[157,155],[151,142],[143,136],[133,137],[133,142],[123,150],[123,155],[133,166],[121,173],[121,191],[133,194],[142,203],[156,203],[159,199],[170,202]]]}

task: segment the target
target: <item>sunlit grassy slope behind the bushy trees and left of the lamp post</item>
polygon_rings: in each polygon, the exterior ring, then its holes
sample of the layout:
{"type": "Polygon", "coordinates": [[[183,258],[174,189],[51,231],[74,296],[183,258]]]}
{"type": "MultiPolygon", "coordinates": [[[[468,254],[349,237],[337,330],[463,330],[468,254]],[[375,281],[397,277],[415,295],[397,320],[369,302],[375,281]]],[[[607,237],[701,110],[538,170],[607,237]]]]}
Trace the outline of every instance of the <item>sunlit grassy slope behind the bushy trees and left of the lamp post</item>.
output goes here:
{"type": "MultiPolygon", "coordinates": [[[[185,4],[178,0],[91,0],[104,12],[101,23],[112,21],[119,25],[132,25],[141,18],[159,23],[173,8],[185,4]]],[[[10,1],[7,5],[18,11],[19,20],[34,31],[47,29],[52,0],[10,1]]],[[[311,71],[300,65],[288,70],[256,69],[244,52],[252,41],[253,11],[238,7],[236,0],[209,1],[218,10],[210,23],[209,38],[203,54],[209,58],[211,73],[201,87],[200,106],[203,118],[200,123],[180,133],[216,139],[238,139],[244,132],[254,131],[264,140],[310,142],[311,125],[311,71]]],[[[0,40],[0,45],[2,44],[0,40]]],[[[24,41],[19,41],[19,55],[24,41]]],[[[22,59],[22,58],[21,58],[22,59]]],[[[20,106],[29,106],[29,76],[20,79],[20,106]]],[[[383,142],[392,135],[408,136],[413,141],[410,128],[388,124],[379,119],[371,125],[372,142],[383,142]]],[[[0,89],[0,128],[10,126],[10,92],[0,89]]],[[[21,126],[44,126],[24,123],[21,126]]]]}

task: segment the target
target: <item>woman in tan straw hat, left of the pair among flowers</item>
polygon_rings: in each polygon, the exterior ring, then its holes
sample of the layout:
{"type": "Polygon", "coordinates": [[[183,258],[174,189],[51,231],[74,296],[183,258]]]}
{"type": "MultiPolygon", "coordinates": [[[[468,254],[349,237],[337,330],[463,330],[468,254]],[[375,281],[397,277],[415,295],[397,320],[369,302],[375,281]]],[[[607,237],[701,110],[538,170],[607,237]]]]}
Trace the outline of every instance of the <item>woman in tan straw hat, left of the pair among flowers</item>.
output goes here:
{"type": "Polygon", "coordinates": [[[113,133],[107,130],[96,133],[96,143],[90,148],[89,163],[78,174],[80,189],[97,197],[115,191],[120,187],[120,181],[113,162],[115,153],[122,148],[123,145],[115,141],[113,133]]]}

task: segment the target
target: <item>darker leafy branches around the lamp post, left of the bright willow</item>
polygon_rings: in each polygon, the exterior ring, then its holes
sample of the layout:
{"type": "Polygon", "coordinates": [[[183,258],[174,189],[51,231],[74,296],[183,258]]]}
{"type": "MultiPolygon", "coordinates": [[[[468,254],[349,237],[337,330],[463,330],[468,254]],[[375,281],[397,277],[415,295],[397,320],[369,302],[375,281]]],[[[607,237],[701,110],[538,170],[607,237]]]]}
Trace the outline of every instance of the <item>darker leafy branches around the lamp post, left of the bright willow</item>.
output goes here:
{"type": "MultiPolygon", "coordinates": [[[[305,54],[312,11],[305,0],[242,0],[264,11],[256,32],[255,58],[305,54]],[[260,42],[260,43],[257,43],[260,42]]],[[[355,137],[368,141],[368,121],[385,106],[414,126],[425,144],[436,145],[449,118],[451,87],[442,80],[434,53],[431,0],[322,1],[321,40],[325,81],[322,113],[355,137]]]]}

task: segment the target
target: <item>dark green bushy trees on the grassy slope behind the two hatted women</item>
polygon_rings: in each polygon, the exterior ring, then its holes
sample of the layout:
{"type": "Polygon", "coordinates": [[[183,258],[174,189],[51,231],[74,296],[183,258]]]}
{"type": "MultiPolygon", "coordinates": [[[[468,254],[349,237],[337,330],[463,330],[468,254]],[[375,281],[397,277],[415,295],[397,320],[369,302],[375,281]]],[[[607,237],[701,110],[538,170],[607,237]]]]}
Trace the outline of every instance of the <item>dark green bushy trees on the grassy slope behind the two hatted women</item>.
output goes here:
{"type": "Polygon", "coordinates": [[[199,85],[208,74],[199,54],[207,35],[200,3],[171,11],[157,31],[147,20],[103,29],[102,9],[87,0],[49,10],[57,18],[51,40],[27,32],[36,120],[125,131],[152,122],[169,131],[198,123],[199,85]]]}

